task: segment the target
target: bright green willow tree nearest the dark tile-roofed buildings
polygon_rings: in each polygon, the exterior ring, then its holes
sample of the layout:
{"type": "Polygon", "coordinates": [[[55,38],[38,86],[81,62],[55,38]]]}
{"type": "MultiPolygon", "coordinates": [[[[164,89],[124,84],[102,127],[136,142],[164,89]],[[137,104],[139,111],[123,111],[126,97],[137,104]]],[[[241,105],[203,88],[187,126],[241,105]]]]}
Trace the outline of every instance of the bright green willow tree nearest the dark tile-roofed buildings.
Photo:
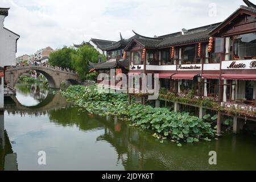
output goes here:
{"type": "MultiPolygon", "coordinates": [[[[86,78],[89,72],[89,62],[98,63],[98,57],[100,56],[95,48],[91,46],[82,46],[77,49],[76,53],[72,55],[72,67],[76,70],[82,79],[86,78]]],[[[102,61],[106,60],[105,55],[102,56],[102,61]]]]}

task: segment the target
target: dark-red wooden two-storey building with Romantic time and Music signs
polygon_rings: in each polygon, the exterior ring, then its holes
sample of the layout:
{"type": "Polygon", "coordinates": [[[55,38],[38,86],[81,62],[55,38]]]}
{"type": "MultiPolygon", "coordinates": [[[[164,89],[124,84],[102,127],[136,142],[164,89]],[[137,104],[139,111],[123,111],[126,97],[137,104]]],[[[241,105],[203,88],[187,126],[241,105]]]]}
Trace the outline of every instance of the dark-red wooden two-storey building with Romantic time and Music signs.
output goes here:
{"type": "Polygon", "coordinates": [[[159,100],[172,102],[175,111],[197,107],[200,118],[215,111],[218,135],[222,117],[232,117],[238,133],[256,121],[256,6],[244,2],[221,23],[154,38],[135,33],[124,50],[129,74],[152,73],[164,90],[159,100]]]}

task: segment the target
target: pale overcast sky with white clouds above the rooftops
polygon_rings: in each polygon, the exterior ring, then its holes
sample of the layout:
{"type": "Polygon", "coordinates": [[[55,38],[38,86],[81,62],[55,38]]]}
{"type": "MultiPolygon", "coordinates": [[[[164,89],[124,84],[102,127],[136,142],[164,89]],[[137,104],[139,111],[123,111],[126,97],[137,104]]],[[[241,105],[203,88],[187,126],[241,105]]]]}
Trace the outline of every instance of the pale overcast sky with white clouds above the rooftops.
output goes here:
{"type": "Polygon", "coordinates": [[[0,7],[10,7],[5,27],[20,35],[17,56],[90,38],[117,41],[119,32],[133,36],[131,30],[170,34],[221,22],[240,5],[242,0],[0,0],[0,7]]]}

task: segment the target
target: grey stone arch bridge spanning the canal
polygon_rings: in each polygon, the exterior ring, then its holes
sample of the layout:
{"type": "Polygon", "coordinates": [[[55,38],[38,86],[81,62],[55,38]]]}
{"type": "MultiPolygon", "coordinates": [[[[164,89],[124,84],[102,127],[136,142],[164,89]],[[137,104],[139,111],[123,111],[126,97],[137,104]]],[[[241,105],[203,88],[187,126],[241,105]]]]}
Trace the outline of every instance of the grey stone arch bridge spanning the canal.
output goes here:
{"type": "Polygon", "coordinates": [[[51,88],[59,89],[62,81],[68,80],[72,84],[79,84],[79,76],[73,72],[61,68],[53,68],[44,65],[27,65],[19,67],[7,67],[5,71],[5,82],[13,87],[18,82],[18,78],[28,71],[42,73],[48,80],[51,88]]]}

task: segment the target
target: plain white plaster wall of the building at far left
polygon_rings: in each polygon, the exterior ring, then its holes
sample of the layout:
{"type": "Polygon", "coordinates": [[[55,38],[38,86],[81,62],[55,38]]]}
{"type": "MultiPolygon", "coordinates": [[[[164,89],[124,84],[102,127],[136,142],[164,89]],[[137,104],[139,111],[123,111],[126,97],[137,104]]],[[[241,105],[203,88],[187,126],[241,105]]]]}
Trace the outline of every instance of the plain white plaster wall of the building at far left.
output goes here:
{"type": "Polygon", "coordinates": [[[16,40],[18,35],[3,28],[5,16],[0,15],[0,67],[16,64],[16,40]]]}

